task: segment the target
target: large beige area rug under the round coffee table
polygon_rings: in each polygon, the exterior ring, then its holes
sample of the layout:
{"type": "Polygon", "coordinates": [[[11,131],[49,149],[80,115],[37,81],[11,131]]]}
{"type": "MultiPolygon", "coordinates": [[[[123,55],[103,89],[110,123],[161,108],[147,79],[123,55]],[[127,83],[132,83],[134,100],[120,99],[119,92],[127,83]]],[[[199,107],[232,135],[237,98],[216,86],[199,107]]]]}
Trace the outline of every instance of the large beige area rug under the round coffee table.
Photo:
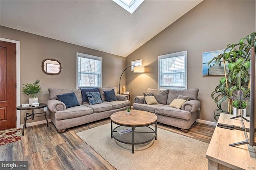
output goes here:
{"type": "Polygon", "coordinates": [[[208,143],[157,128],[157,140],[135,145],[132,154],[132,145],[110,138],[110,131],[109,123],[77,135],[118,170],[208,169],[208,143]]]}

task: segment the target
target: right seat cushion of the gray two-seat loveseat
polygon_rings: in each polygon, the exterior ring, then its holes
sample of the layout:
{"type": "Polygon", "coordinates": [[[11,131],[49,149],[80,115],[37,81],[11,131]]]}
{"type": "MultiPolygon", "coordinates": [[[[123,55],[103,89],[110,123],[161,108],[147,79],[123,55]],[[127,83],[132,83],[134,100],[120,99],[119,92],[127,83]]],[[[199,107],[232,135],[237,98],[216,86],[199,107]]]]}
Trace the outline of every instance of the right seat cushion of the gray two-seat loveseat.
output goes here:
{"type": "Polygon", "coordinates": [[[173,107],[169,107],[168,105],[157,107],[155,113],[158,115],[176,117],[176,118],[184,119],[184,120],[191,119],[191,113],[189,111],[176,109],[173,107]]]}

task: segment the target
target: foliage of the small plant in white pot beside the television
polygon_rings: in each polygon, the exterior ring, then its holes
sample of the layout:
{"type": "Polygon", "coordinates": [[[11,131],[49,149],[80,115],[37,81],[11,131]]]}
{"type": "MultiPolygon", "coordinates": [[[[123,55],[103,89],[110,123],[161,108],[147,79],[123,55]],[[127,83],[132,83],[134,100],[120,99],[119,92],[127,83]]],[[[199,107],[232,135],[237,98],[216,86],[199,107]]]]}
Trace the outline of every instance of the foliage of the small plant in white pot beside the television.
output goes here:
{"type": "Polygon", "coordinates": [[[236,109],[245,109],[247,105],[247,100],[249,99],[250,89],[248,89],[249,93],[244,94],[242,90],[239,90],[237,94],[232,96],[232,104],[236,109]]]}

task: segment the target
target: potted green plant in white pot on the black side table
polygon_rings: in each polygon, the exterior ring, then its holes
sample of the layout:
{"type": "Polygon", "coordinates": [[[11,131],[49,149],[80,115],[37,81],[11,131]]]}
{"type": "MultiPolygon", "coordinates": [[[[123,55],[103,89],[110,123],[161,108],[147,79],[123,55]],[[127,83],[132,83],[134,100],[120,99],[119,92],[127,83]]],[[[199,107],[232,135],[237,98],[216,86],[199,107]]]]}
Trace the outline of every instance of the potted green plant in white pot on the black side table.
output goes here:
{"type": "Polygon", "coordinates": [[[36,97],[36,95],[42,91],[41,86],[38,84],[39,82],[40,80],[37,79],[33,84],[22,84],[24,85],[22,93],[30,96],[30,98],[28,98],[28,104],[38,103],[38,97],[36,97]]]}

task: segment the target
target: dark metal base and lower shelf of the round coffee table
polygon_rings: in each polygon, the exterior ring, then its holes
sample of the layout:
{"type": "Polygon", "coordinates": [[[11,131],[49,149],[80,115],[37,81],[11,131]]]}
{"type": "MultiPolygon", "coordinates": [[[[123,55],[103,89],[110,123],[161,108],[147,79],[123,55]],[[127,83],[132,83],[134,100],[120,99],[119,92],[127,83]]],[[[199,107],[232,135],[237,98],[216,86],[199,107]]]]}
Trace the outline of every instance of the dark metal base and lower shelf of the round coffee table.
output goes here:
{"type": "Polygon", "coordinates": [[[145,144],[154,139],[157,140],[157,137],[156,137],[157,123],[155,122],[153,124],[155,124],[155,130],[148,126],[124,126],[124,125],[119,125],[118,127],[113,129],[113,124],[111,121],[111,138],[114,138],[118,142],[122,142],[125,144],[132,144],[132,153],[134,153],[135,144],[145,144]],[[124,134],[119,134],[117,132],[117,130],[122,130],[126,127],[131,127],[132,131],[124,134]]]}

